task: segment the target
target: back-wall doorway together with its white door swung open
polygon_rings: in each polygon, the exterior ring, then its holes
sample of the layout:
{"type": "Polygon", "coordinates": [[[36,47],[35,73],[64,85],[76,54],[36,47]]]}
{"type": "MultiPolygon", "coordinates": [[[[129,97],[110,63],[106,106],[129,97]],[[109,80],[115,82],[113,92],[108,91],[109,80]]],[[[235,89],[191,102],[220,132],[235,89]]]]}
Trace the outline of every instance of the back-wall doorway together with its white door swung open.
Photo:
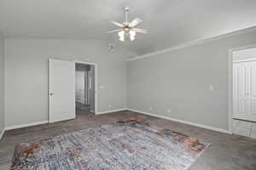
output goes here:
{"type": "Polygon", "coordinates": [[[49,122],[96,114],[96,71],[94,63],[49,59],[49,122]]]}

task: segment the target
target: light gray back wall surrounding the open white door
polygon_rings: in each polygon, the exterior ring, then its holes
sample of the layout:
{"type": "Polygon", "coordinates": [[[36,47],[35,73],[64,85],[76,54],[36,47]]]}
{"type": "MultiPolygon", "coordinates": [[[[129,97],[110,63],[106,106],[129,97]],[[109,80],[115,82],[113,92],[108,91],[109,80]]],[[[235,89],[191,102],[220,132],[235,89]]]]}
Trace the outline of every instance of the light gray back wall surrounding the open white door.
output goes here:
{"type": "Polygon", "coordinates": [[[97,63],[98,111],[126,106],[125,59],[131,53],[123,48],[109,52],[100,40],[6,39],[4,54],[6,127],[48,120],[49,58],[97,63]]]}

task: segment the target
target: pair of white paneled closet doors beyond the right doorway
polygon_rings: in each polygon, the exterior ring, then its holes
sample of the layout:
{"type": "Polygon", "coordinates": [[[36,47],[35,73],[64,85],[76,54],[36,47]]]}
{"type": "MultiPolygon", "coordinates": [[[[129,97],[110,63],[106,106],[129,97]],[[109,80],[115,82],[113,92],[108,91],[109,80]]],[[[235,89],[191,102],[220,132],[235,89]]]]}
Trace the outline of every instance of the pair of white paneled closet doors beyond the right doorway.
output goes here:
{"type": "Polygon", "coordinates": [[[256,122],[256,61],[233,64],[233,117],[256,122]]]}

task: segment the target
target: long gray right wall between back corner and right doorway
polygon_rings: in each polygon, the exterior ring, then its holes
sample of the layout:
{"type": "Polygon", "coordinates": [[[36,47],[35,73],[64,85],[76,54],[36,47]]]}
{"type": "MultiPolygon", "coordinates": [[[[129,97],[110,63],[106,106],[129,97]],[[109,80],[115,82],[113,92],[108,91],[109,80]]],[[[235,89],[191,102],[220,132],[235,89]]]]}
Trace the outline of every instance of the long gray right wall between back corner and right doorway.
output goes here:
{"type": "Polygon", "coordinates": [[[228,129],[229,49],[253,43],[256,31],[128,62],[127,107],[228,129]]]}

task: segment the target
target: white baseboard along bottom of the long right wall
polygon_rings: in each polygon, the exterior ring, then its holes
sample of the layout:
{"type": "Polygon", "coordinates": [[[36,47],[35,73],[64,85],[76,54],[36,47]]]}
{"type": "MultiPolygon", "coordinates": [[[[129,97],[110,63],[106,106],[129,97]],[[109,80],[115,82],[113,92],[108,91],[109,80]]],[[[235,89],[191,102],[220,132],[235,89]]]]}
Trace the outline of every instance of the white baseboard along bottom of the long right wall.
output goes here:
{"type": "Polygon", "coordinates": [[[206,128],[206,129],[209,129],[209,130],[212,130],[212,131],[217,131],[217,132],[220,132],[220,133],[232,134],[229,130],[225,130],[225,129],[222,129],[222,128],[206,126],[206,125],[202,125],[202,124],[195,123],[195,122],[183,121],[183,120],[180,120],[180,119],[167,117],[167,116],[155,115],[154,113],[148,113],[148,112],[145,112],[145,111],[137,111],[137,110],[133,110],[133,109],[127,109],[127,111],[134,111],[134,112],[137,112],[137,113],[141,113],[143,115],[155,116],[155,117],[170,120],[170,121],[173,121],[173,122],[181,122],[181,123],[189,124],[189,125],[192,125],[192,126],[195,126],[195,127],[201,127],[201,128],[206,128]]]}

